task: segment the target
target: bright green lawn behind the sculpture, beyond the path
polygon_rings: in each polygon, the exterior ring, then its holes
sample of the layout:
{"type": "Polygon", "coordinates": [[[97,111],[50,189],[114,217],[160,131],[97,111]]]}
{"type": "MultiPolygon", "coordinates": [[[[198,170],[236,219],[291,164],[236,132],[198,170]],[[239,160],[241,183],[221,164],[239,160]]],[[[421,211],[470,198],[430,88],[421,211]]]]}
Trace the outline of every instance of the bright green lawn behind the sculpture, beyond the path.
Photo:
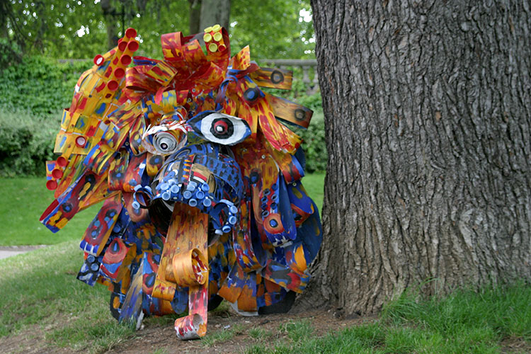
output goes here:
{"type": "MultiPolygon", "coordinates": [[[[321,210],[324,173],[310,174],[302,181],[321,210]]],[[[45,178],[0,178],[0,190],[4,198],[0,203],[0,223],[3,226],[0,246],[59,244],[81,240],[101,203],[79,212],[62,230],[53,234],[39,222],[40,215],[54,199],[45,183],[45,178]]]]}

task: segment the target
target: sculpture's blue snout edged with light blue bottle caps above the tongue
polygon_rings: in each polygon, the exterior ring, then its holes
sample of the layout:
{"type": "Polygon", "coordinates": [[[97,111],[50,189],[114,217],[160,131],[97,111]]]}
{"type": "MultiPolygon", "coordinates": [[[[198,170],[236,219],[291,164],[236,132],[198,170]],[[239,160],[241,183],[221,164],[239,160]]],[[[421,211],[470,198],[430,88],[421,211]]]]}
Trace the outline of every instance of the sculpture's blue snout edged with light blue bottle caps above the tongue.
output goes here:
{"type": "Polygon", "coordinates": [[[167,234],[176,209],[197,208],[209,216],[210,245],[238,222],[242,185],[231,149],[213,143],[196,144],[168,156],[149,185],[135,188],[133,203],[149,210],[161,234],[167,234]]]}

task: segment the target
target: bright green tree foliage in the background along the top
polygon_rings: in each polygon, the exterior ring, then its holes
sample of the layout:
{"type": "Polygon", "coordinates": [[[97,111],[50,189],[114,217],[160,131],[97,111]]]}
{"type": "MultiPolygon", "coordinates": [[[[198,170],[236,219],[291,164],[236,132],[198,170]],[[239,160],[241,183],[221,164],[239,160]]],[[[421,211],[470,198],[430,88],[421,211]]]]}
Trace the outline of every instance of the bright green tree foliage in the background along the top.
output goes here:
{"type": "MultiPolygon", "coordinates": [[[[1,0],[1,10],[4,42],[16,43],[25,54],[65,59],[108,50],[109,26],[117,30],[116,38],[125,28],[136,28],[137,54],[149,57],[161,56],[161,34],[188,35],[190,28],[188,0],[1,0]]],[[[312,57],[310,11],[307,0],[232,0],[232,51],[250,44],[253,57],[312,57]]]]}

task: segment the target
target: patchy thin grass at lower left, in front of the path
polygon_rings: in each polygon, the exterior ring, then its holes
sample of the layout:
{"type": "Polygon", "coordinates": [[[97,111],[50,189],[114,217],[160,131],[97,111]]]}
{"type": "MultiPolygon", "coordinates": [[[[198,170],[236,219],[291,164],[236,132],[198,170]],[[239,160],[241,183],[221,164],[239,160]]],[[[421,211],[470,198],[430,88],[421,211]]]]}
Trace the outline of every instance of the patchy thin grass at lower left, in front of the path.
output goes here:
{"type": "Polygon", "coordinates": [[[108,290],[76,280],[76,241],[0,260],[0,338],[42,331],[48,343],[99,353],[134,335],[108,310],[108,290]]]}

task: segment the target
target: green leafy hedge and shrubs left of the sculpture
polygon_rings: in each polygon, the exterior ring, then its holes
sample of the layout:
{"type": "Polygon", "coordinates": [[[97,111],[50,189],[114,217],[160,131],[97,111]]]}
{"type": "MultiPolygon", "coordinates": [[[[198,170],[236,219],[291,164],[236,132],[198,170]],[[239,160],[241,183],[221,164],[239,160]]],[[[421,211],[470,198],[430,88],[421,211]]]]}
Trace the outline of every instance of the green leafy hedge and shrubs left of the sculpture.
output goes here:
{"type": "Polygon", "coordinates": [[[0,176],[42,176],[62,108],[91,62],[23,57],[0,69],[0,176]]]}

